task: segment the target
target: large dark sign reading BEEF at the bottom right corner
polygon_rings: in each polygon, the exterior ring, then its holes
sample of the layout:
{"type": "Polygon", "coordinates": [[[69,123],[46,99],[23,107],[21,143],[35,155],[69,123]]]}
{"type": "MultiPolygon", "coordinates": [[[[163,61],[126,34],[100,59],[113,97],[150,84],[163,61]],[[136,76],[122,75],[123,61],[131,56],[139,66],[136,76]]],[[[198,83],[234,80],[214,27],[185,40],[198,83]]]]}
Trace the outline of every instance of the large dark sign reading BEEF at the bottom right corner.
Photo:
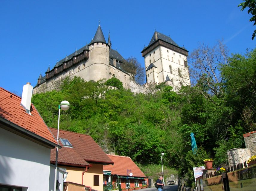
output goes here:
{"type": "Polygon", "coordinates": [[[256,164],[228,172],[228,182],[230,191],[255,191],[256,164]]]}

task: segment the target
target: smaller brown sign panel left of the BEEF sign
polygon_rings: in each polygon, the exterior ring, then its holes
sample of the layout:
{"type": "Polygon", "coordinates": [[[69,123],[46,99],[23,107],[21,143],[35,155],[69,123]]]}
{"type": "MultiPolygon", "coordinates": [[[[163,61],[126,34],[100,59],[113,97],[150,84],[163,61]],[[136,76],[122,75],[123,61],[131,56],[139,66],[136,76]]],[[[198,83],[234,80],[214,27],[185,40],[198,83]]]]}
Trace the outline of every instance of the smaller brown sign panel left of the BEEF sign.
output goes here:
{"type": "Polygon", "coordinates": [[[222,191],[222,190],[224,190],[222,175],[202,179],[202,181],[203,181],[204,191],[222,191]]]}

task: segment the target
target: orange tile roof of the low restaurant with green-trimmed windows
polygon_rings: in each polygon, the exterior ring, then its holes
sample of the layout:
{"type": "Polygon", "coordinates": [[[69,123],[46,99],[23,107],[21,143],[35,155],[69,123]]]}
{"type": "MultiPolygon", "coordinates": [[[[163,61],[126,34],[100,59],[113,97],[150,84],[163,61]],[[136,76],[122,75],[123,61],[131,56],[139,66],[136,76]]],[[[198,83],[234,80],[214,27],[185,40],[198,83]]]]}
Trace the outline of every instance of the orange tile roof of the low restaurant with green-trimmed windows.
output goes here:
{"type": "Polygon", "coordinates": [[[114,162],[114,165],[103,166],[103,170],[109,170],[111,171],[111,174],[121,176],[127,176],[127,174],[132,172],[132,177],[146,177],[130,157],[118,155],[108,156],[114,162]]]}

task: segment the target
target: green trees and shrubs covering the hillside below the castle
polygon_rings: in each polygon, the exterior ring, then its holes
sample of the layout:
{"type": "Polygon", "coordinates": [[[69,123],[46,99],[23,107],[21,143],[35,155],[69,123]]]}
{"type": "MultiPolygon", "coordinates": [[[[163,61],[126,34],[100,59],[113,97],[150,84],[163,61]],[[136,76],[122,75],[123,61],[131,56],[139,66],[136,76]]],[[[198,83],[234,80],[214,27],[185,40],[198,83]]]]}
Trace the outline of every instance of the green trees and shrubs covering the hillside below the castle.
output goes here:
{"type": "MultiPolygon", "coordinates": [[[[192,184],[193,167],[202,166],[204,158],[214,158],[215,167],[227,164],[226,150],[245,147],[243,134],[256,130],[256,49],[223,62],[217,59],[212,65],[217,73],[202,72],[207,56],[203,60],[199,52],[193,53],[192,86],[179,93],[161,84],[156,93],[135,95],[116,78],[86,82],[74,77],[65,78],[58,91],[33,95],[32,102],[46,124],[57,128],[58,105],[69,101],[70,109],[61,111],[60,129],[91,135],[106,153],[131,157],[146,175],[152,173],[148,165],[161,165],[164,153],[164,166],[175,168],[192,184]],[[108,90],[105,84],[118,89],[108,90]]],[[[160,166],[155,170],[161,173],[160,166]]],[[[165,172],[167,168],[167,177],[165,172]]]]}

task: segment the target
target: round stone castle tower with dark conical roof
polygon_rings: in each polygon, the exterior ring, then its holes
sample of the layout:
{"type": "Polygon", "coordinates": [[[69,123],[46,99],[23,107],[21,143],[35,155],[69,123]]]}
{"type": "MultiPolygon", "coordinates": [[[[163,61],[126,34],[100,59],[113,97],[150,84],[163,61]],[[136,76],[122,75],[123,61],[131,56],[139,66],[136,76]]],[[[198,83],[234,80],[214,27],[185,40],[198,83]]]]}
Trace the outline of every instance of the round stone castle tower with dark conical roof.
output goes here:
{"type": "Polygon", "coordinates": [[[87,74],[90,80],[109,79],[109,44],[106,43],[99,25],[89,44],[87,74]]]}

